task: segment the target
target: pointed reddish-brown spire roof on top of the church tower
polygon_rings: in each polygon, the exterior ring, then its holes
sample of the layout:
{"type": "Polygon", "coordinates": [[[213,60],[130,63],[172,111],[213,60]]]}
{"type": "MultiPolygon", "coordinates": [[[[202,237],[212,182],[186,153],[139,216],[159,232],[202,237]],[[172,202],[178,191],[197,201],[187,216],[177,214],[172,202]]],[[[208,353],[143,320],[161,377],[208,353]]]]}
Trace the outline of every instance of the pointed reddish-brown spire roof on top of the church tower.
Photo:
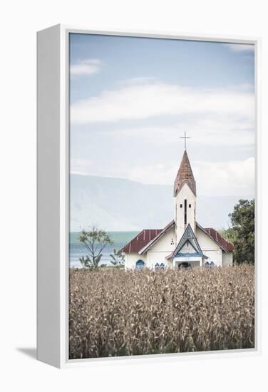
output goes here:
{"type": "Polygon", "coordinates": [[[182,156],[182,162],[180,163],[179,170],[177,172],[177,176],[174,182],[174,196],[180,192],[182,186],[187,184],[190,187],[190,190],[196,196],[196,187],[195,187],[195,177],[192,174],[192,167],[190,165],[190,160],[187,155],[187,151],[185,150],[182,156]]]}

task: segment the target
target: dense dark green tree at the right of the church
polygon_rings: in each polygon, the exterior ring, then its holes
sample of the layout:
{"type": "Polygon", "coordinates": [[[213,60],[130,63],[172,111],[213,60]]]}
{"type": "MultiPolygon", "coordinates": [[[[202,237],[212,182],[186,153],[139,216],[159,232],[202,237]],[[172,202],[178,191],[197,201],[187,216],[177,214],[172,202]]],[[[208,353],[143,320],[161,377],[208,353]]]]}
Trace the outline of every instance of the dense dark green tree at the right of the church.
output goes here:
{"type": "Polygon", "coordinates": [[[239,200],[229,217],[225,238],[234,244],[234,262],[254,263],[254,199],[239,200]]]}

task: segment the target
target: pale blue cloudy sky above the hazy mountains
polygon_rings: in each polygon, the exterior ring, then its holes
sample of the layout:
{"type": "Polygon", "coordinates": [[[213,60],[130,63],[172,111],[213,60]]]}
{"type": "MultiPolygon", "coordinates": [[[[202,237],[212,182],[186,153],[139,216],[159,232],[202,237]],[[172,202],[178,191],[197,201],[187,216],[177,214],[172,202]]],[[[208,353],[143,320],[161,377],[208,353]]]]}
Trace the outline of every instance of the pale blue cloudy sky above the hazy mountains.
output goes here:
{"type": "Polygon", "coordinates": [[[254,196],[254,46],[71,33],[72,173],[254,196]]]}

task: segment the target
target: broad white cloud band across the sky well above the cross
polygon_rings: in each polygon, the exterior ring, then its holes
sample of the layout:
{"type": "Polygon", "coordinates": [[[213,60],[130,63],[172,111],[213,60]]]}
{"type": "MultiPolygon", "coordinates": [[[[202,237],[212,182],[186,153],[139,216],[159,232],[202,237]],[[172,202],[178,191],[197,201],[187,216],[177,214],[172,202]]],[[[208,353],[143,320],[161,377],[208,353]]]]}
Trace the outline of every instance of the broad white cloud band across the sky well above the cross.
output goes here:
{"type": "Polygon", "coordinates": [[[165,83],[127,84],[71,105],[71,123],[153,118],[158,115],[219,115],[253,120],[254,94],[244,88],[197,89],[165,83]]]}

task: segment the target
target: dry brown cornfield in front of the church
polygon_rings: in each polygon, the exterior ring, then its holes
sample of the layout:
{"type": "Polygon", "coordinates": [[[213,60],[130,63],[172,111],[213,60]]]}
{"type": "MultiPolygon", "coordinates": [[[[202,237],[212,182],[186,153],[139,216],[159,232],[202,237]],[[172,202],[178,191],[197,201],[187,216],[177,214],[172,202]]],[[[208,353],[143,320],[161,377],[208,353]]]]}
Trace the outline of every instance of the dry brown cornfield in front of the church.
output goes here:
{"type": "Polygon", "coordinates": [[[252,266],[70,270],[70,359],[252,347],[252,266]]]}

